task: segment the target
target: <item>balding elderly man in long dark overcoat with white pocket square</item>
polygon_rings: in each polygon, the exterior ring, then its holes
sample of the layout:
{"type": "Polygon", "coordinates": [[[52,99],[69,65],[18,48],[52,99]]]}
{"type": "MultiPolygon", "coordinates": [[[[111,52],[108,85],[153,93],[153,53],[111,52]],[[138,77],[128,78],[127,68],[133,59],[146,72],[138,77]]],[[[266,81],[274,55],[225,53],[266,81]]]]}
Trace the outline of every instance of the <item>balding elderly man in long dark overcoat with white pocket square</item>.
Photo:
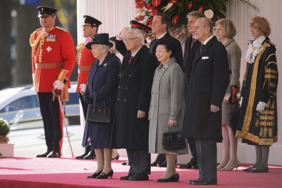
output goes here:
{"type": "Polygon", "coordinates": [[[201,46],[192,65],[181,132],[195,139],[199,178],[188,183],[196,185],[217,184],[216,140],[222,140],[221,104],[229,84],[227,51],[213,36],[212,27],[209,18],[199,18],[194,25],[201,46]]]}

